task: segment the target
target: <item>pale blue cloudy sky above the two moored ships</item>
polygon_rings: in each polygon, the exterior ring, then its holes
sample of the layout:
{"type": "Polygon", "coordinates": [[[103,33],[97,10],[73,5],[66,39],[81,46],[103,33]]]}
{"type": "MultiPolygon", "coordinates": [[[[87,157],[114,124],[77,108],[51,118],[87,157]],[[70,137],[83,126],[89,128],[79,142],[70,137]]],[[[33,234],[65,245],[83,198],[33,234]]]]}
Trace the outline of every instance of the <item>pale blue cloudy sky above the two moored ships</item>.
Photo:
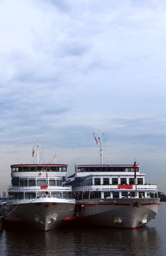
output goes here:
{"type": "Polygon", "coordinates": [[[0,0],[0,192],[10,165],[136,158],[166,192],[165,0],[0,0]],[[55,157],[56,156],[56,157],[55,157]]]}

